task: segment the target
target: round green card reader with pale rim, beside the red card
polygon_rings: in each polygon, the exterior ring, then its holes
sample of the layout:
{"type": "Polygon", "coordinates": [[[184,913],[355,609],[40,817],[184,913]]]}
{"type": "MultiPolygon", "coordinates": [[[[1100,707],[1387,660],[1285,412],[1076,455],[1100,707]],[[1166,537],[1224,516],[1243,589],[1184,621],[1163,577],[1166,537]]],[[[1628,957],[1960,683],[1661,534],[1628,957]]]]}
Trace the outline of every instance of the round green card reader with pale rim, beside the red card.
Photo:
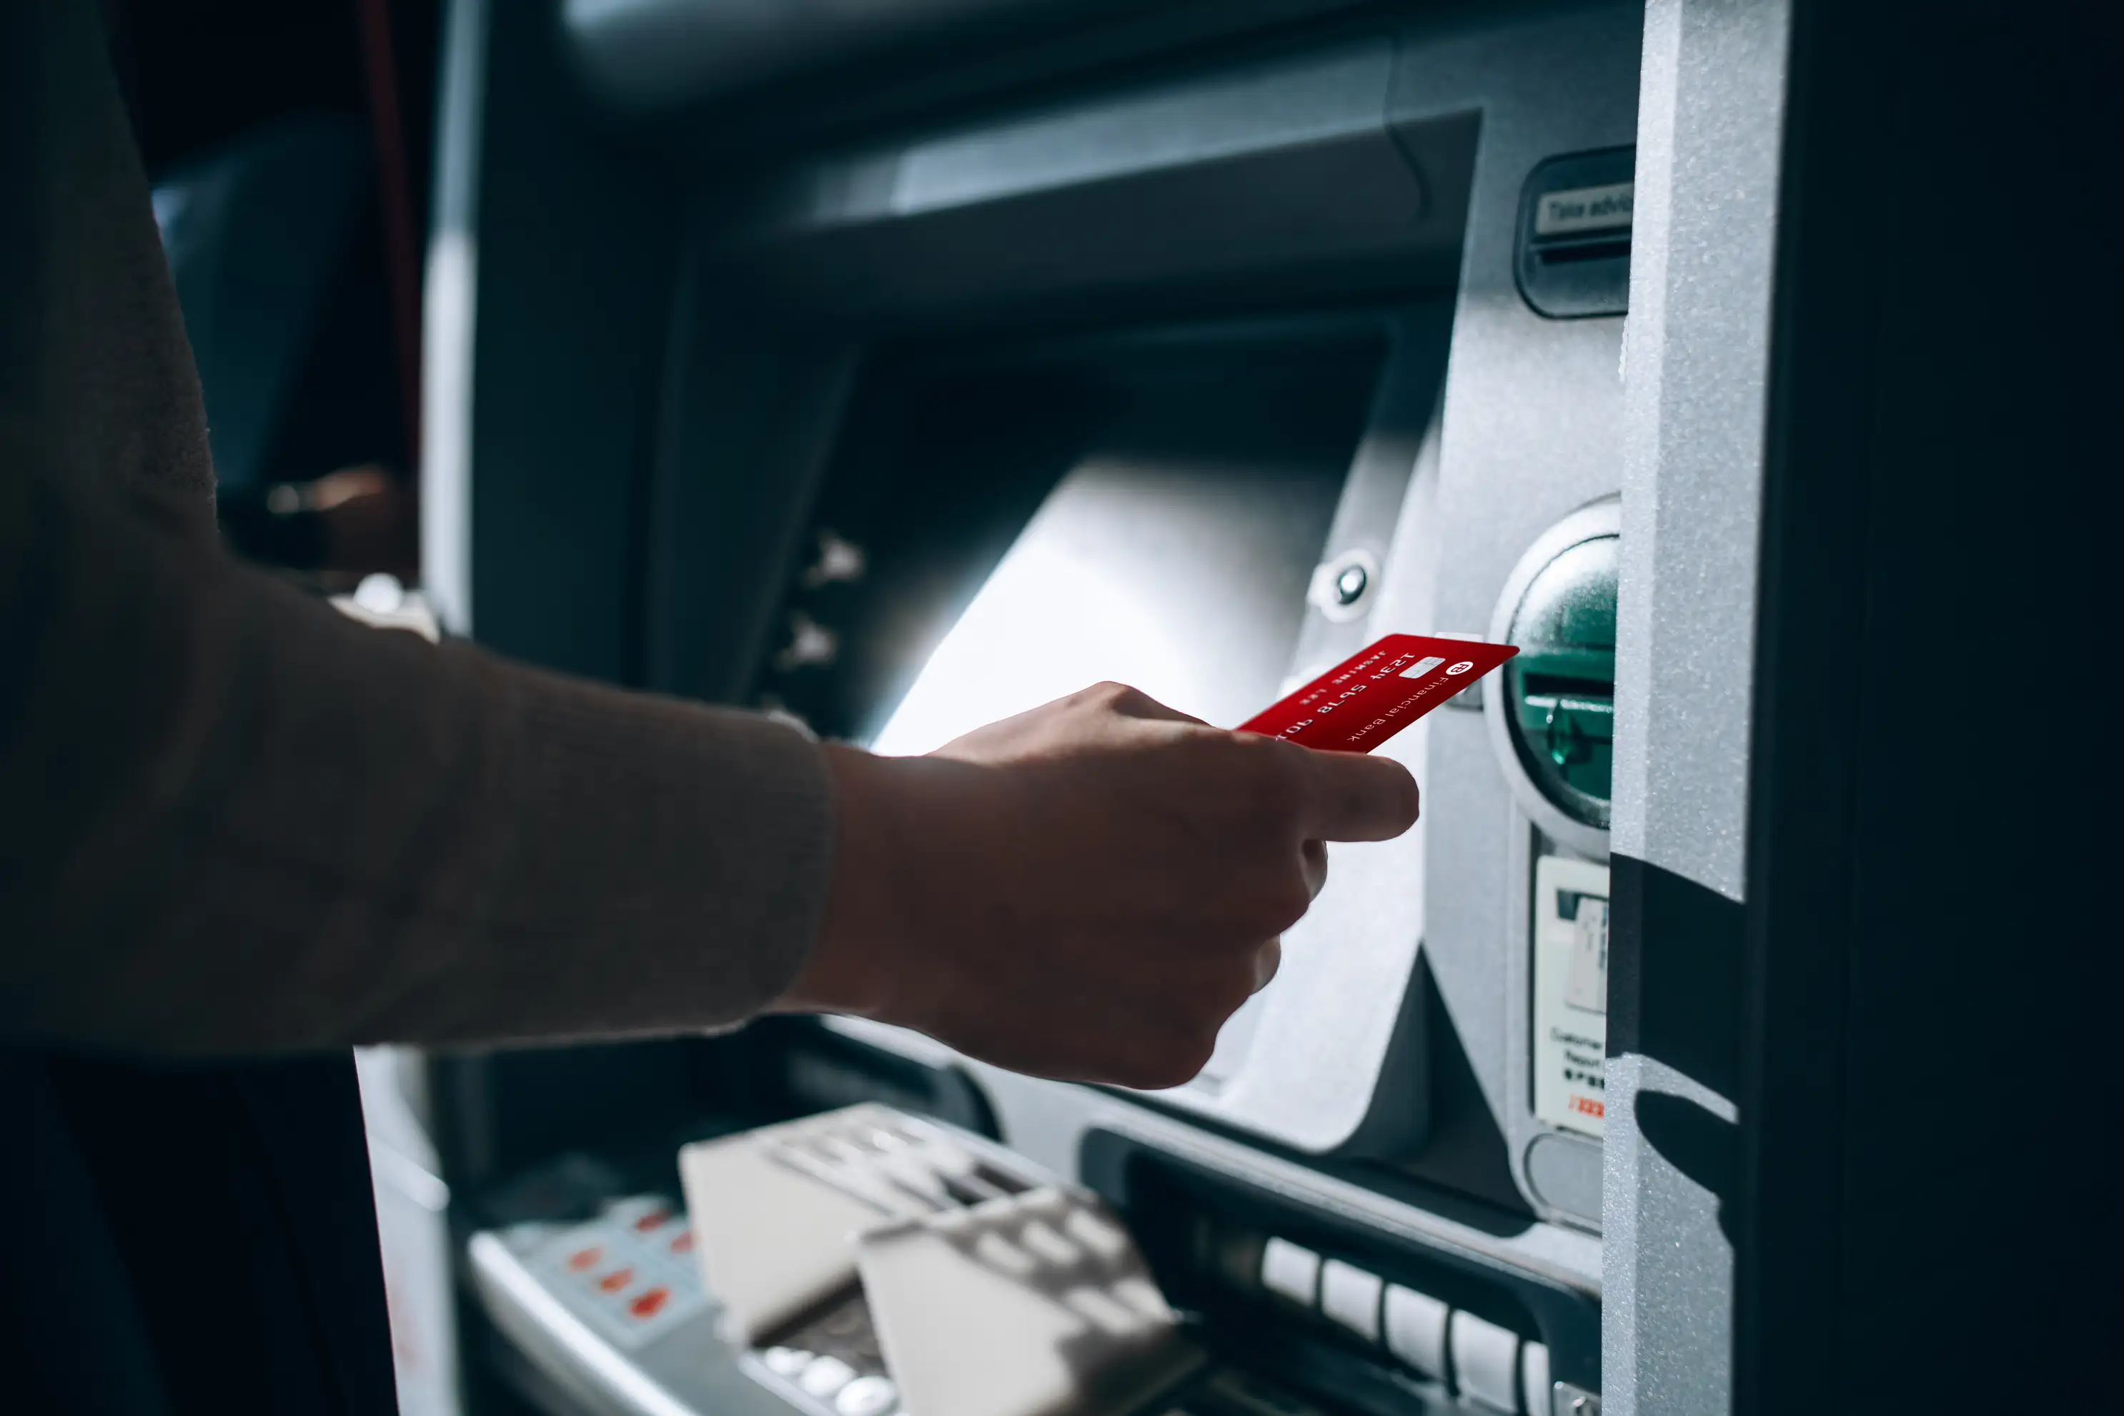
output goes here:
{"type": "Polygon", "coordinates": [[[1519,645],[1489,713],[1500,762],[1534,822],[1595,858],[1608,853],[1618,571],[1618,505],[1597,501],[1534,543],[1491,628],[1519,645]]]}

